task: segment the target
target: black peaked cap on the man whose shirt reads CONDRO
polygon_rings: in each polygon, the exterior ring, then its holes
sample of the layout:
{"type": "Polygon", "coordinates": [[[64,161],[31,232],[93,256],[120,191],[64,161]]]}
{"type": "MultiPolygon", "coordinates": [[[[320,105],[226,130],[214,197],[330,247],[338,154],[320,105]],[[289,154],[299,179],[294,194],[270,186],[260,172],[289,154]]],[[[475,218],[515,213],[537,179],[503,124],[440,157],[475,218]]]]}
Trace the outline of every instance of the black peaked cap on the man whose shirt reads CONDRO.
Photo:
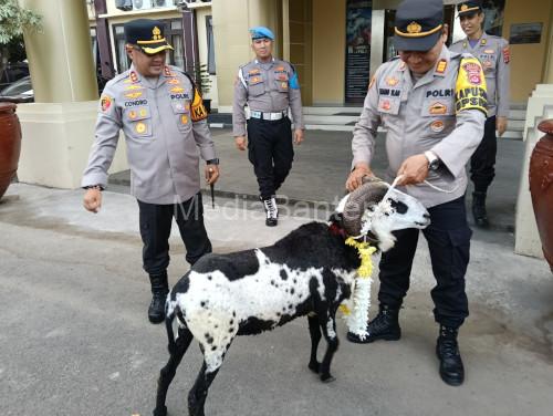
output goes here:
{"type": "Polygon", "coordinates": [[[165,24],[159,20],[132,20],[125,23],[124,29],[127,43],[136,44],[146,54],[153,55],[173,49],[165,39],[165,24]]]}

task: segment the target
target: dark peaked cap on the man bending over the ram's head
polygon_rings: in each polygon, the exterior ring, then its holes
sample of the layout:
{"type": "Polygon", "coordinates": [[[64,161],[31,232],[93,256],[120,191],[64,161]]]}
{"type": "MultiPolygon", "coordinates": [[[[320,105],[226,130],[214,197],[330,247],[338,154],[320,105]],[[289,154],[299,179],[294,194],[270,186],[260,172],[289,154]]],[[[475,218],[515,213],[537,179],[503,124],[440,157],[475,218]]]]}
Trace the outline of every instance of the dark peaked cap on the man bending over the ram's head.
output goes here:
{"type": "Polygon", "coordinates": [[[428,51],[441,37],[442,0],[405,0],[396,11],[394,46],[398,51],[428,51]]]}

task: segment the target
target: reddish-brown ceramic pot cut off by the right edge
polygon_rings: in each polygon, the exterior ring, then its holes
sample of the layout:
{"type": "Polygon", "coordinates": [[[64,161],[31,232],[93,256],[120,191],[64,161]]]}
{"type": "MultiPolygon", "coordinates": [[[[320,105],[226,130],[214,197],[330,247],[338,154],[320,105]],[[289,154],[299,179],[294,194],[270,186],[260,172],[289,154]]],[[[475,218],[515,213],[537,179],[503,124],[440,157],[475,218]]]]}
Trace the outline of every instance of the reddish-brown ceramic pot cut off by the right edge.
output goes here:
{"type": "Polygon", "coordinates": [[[545,133],[530,158],[530,194],[543,254],[553,271],[553,119],[538,126],[545,133]]]}

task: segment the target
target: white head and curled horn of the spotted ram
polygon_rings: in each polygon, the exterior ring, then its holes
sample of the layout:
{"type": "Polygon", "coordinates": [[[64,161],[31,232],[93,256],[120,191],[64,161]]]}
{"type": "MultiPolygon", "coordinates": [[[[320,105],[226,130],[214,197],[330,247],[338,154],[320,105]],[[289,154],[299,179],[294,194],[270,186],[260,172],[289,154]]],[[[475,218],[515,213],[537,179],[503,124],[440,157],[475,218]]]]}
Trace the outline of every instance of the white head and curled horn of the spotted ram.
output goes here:
{"type": "Polygon", "coordinates": [[[336,211],[342,214],[348,236],[372,233],[380,251],[394,247],[392,231],[422,229],[430,223],[430,216],[418,199],[375,177],[364,178],[362,186],[340,201],[336,211]]]}

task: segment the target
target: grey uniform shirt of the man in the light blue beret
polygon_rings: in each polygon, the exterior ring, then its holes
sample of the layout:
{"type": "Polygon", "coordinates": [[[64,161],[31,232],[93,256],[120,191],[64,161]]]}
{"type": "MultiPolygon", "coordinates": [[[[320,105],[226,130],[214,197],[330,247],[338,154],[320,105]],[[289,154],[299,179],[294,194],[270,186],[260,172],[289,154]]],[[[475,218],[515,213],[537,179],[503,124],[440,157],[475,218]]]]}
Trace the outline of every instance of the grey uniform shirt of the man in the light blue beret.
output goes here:
{"type": "Polygon", "coordinates": [[[232,101],[234,137],[246,136],[246,104],[250,111],[263,113],[288,112],[290,107],[294,128],[303,128],[300,87],[290,82],[294,76],[298,75],[290,62],[274,58],[270,63],[254,60],[238,70],[232,101]]]}

